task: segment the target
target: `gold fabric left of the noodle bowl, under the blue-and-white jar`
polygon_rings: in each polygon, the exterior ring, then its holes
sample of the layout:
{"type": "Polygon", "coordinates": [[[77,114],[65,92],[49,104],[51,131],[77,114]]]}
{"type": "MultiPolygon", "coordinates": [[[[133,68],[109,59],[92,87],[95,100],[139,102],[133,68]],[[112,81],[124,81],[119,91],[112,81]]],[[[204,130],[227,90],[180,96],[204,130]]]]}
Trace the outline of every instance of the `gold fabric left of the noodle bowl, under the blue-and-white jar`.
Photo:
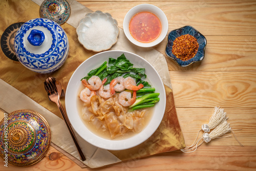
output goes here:
{"type": "MultiPolygon", "coordinates": [[[[39,6],[32,1],[1,1],[0,2],[0,16],[1,16],[1,32],[2,35],[5,29],[20,22],[28,22],[33,18],[39,18],[39,6]]],[[[79,43],[76,29],[69,24],[63,24],[61,27],[68,35],[70,51],[68,59],[65,64],[56,72],[50,74],[39,74],[26,69],[20,62],[8,59],[1,50],[1,79],[11,84],[20,92],[26,94],[49,111],[61,117],[61,114],[56,108],[56,104],[49,103],[46,99],[46,91],[43,82],[49,76],[56,77],[66,88],[70,77],[75,69],[84,60],[96,54],[92,51],[87,51],[79,43]]],[[[62,105],[65,104],[65,99],[61,99],[62,105]]]]}

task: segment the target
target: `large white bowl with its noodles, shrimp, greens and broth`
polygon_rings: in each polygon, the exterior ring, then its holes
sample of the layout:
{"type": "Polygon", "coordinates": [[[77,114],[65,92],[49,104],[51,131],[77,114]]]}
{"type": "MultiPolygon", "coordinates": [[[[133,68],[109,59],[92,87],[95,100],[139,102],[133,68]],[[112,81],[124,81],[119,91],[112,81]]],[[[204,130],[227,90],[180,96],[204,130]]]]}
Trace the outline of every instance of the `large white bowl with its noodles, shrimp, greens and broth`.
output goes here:
{"type": "Polygon", "coordinates": [[[125,51],[98,53],[75,70],[66,91],[74,130],[94,146],[134,147],[158,128],[165,111],[163,82],[142,57],[125,51]]]}

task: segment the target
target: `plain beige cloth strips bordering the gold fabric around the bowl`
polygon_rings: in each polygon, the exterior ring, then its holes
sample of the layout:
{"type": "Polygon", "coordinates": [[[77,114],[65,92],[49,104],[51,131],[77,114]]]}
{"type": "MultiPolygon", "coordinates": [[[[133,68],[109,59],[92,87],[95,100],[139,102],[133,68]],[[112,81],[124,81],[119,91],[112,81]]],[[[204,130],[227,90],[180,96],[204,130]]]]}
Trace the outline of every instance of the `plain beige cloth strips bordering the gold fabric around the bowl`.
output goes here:
{"type": "MultiPolygon", "coordinates": [[[[41,5],[43,0],[32,0],[38,5],[41,5]]],[[[86,15],[88,12],[92,12],[90,9],[82,6],[75,0],[68,0],[71,6],[71,16],[68,20],[68,24],[73,27],[78,26],[79,20],[86,15]]],[[[133,52],[145,58],[150,62],[153,67],[158,71],[161,76],[163,83],[171,88],[167,63],[164,55],[154,50],[153,48],[138,48],[137,46],[130,43],[130,41],[125,37],[124,32],[120,29],[119,37],[117,43],[111,48],[111,50],[125,50],[133,52]]],[[[19,92],[8,83],[0,79],[0,107],[7,112],[13,112],[20,109],[30,109],[40,113],[48,121],[51,132],[52,132],[52,142],[71,154],[78,160],[79,155],[77,149],[72,141],[72,138],[68,132],[65,122],[54,115],[52,112],[48,111],[31,98],[19,92]],[[20,100],[22,99],[22,100],[20,100]],[[15,104],[15,105],[14,105],[15,104]]],[[[89,167],[101,167],[108,164],[113,164],[120,162],[121,160],[115,157],[112,153],[105,149],[97,148],[88,142],[84,141],[79,135],[76,134],[78,142],[82,147],[82,151],[86,155],[87,160],[83,161],[83,164],[89,167]]],[[[80,165],[82,166],[82,165],[80,165]]]]}

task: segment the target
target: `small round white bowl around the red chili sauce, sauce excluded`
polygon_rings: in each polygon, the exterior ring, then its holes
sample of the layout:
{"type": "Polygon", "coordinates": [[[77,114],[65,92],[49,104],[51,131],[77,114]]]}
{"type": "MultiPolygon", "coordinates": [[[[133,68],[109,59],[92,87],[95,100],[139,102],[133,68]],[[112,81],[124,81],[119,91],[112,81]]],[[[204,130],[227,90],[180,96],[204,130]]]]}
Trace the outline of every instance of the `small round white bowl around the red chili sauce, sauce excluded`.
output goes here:
{"type": "Polygon", "coordinates": [[[164,14],[164,12],[151,4],[141,4],[141,5],[137,5],[135,7],[133,7],[130,11],[127,12],[127,14],[124,17],[123,20],[123,31],[125,36],[134,44],[137,45],[139,47],[153,47],[158,45],[167,35],[168,32],[168,20],[166,15],[164,14]],[[139,13],[139,12],[143,12],[143,11],[147,11],[147,12],[151,12],[153,14],[155,14],[159,19],[160,22],[162,24],[162,30],[160,35],[158,36],[157,39],[155,39],[154,41],[151,42],[140,42],[138,40],[136,40],[130,33],[130,29],[129,29],[129,24],[130,24],[130,20],[132,19],[132,17],[139,13]]]}

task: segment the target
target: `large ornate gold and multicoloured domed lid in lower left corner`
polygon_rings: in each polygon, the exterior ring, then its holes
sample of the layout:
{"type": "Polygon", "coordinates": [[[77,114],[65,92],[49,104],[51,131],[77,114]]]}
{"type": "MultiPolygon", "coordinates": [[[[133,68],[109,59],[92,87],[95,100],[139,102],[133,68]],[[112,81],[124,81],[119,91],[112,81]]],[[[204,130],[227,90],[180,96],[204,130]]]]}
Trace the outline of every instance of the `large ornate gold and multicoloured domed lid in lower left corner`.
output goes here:
{"type": "Polygon", "coordinates": [[[0,140],[0,157],[4,162],[28,166],[38,162],[47,153],[51,131],[40,114],[19,110],[5,115],[0,122],[0,140]]]}

